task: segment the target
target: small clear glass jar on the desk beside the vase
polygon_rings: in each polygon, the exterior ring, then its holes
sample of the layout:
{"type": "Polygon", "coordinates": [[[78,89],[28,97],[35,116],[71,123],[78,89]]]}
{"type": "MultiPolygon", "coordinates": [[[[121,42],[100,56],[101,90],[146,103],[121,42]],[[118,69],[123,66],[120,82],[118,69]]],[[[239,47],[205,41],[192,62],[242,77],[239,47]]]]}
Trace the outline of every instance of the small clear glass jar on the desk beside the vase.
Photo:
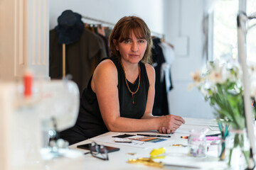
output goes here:
{"type": "Polygon", "coordinates": [[[206,157],[207,153],[207,140],[206,132],[208,129],[201,131],[191,130],[191,133],[188,137],[188,155],[191,157],[206,157]]]}

